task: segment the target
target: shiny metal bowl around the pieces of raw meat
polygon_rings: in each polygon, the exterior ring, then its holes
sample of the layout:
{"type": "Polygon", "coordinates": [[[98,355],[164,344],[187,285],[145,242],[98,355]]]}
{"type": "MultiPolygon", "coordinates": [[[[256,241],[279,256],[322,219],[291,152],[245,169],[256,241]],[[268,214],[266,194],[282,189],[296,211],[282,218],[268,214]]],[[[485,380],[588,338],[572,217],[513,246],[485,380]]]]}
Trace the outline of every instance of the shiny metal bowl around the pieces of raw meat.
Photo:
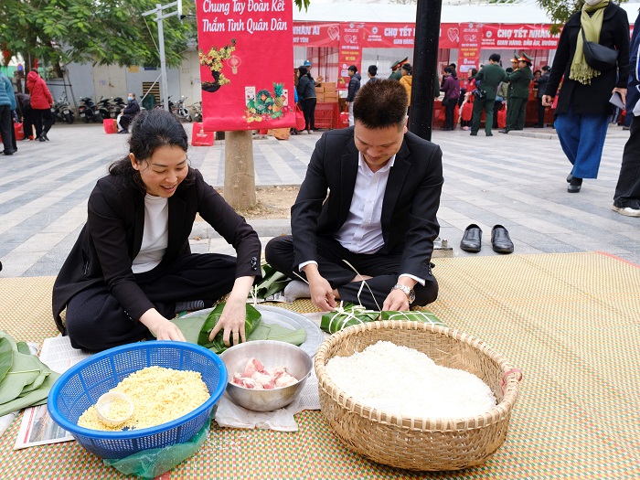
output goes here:
{"type": "Polygon", "coordinates": [[[256,340],[230,347],[220,354],[220,359],[229,373],[229,396],[240,407],[252,411],[274,411],[289,405],[302,391],[313,368],[311,357],[302,348],[274,340],[256,340]],[[299,381],[271,390],[245,389],[231,383],[233,374],[243,372],[251,357],[258,358],[264,368],[284,366],[299,381]]]}

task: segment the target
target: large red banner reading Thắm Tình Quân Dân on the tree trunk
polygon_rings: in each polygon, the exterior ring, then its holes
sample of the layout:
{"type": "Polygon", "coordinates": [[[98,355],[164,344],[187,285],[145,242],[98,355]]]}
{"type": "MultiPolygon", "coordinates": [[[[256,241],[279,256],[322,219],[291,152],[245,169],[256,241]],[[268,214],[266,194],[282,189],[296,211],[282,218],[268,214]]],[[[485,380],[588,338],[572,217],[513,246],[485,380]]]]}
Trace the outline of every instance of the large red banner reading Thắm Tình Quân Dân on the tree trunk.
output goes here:
{"type": "Polygon", "coordinates": [[[196,5],[205,130],[293,127],[292,0],[196,5]]]}

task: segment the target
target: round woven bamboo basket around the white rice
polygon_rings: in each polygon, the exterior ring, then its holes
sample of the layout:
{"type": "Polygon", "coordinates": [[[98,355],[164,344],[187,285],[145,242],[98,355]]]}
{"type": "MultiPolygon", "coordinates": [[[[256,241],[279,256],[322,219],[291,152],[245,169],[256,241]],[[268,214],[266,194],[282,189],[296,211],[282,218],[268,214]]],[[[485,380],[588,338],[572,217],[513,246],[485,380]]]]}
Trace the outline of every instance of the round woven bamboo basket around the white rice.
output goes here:
{"type": "MultiPolygon", "coordinates": [[[[381,321],[353,325],[325,340],[315,355],[320,406],[337,437],[379,464],[420,471],[483,464],[504,443],[521,372],[483,341],[439,325],[381,321]],[[497,405],[469,418],[403,418],[358,403],[327,376],[332,357],[347,357],[379,340],[415,348],[436,364],[483,379],[497,405]]],[[[399,385],[399,388],[401,386],[399,385]]]]}

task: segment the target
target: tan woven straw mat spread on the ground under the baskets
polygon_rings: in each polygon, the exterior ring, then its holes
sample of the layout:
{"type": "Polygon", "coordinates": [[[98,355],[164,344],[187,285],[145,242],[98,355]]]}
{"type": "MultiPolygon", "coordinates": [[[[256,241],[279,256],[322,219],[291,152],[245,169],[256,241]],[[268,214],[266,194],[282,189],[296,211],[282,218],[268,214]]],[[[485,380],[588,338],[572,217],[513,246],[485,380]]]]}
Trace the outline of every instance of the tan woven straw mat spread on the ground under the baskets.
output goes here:
{"type": "MultiPolygon", "coordinates": [[[[429,309],[485,340],[524,379],[507,441],[484,465],[412,473],[348,451],[319,411],[299,432],[213,427],[171,479],[637,479],[640,478],[640,268],[598,252],[437,259],[429,309]]],[[[0,279],[1,328],[19,340],[56,334],[51,278],[0,279]]],[[[283,306],[283,305],[280,305],[283,306]]],[[[308,301],[290,305],[315,311],[308,301]]],[[[13,451],[0,439],[3,478],[125,478],[76,443],[13,451]]]]}

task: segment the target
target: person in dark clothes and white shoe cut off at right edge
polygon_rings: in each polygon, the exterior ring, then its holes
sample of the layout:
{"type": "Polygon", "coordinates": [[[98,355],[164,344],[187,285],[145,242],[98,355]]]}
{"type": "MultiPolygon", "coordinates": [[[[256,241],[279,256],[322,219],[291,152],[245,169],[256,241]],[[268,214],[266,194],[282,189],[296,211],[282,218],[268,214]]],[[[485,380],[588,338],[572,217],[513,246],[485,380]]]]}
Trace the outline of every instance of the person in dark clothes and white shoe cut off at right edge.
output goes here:
{"type": "Polygon", "coordinates": [[[625,107],[627,117],[632,120],[613,194],[613,210],[626,217],[640,217],[640,15],[635,18],[634,36],[631,37],[629,49],[631,73],[625,107]]]}

